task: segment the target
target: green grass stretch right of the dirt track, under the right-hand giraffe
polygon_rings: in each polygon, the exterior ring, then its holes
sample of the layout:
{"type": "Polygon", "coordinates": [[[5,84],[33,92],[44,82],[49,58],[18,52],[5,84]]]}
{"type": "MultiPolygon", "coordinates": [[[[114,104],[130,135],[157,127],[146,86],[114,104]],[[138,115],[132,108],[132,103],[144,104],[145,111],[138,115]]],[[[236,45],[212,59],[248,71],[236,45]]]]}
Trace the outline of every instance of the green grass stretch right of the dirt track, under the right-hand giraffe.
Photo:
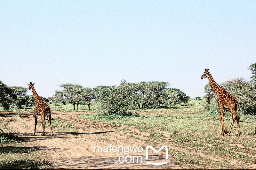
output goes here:
{"type": "MultiPolygon", "coordinates": [[[[231,136],[220,136],[219,115],[206,115],[201,107],[202,102],[202,100],[190,100],[188,105],[177,105],[168,109],[140,110],[137,112],[140,116],[126,116],[121,119],[108,119],[94,114],[78,114],[77,117],[95,122],[132,125],[135,129],[151,133],[152,140],[145,141],[145,144],[152,146],[158,146],[159,142],[164,142],[164,144],[179,146],[209,157],[217,155],[220,158],[227,157],[255,164],[255,151],[251,147],[255,147],[256,116],[240,115],[241,137],[236,136],[236,122],[233,125],[231,136]],[[170,136],[165,137],[164,132],[170,132],[170,136]]],[[[225,115],[227,129],[231,124],[231,119],[231,113],[227,112],[225,115]]],[[[124,128],[123,131],[140,138],[129,128],[124,128]]],[[[176,160],[192,162],[194,165],[205,165],[207,168],[218,166],[236,168],[236,166],[231,166],[228,162],[221,160],[212,160],[173,149],[170,149],[169,152],[175,155],[176,160]]]]}

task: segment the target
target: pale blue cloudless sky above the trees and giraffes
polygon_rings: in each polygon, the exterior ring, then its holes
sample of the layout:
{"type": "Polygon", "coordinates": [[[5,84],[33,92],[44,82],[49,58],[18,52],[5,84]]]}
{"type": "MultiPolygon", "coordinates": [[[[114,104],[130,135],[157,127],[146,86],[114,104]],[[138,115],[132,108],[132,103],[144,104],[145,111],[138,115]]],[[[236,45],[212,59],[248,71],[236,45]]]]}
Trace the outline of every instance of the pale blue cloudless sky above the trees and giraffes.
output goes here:
{"type": "MultiPolygon", "coordinates": [[[[164,81],[203,97],[256,62],[256,1],[0,1],[0,80],[84,87],[164,81]]],[[[31,91],[28,94],[32,94],[31,91]]]]}

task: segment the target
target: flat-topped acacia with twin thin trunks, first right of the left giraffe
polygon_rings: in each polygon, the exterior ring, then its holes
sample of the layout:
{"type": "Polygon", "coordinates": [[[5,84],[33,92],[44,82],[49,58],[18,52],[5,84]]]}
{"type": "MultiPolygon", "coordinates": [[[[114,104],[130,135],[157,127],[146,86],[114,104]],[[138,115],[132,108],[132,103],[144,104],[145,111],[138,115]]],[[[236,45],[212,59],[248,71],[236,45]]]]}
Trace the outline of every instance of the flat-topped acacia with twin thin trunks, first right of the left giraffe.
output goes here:
{"type": "Polygon", "coordinates": [[[80,93],[82,92],[83,86],[81,85],[72,85],[72,84],[62,84],[60,87],[64,88],[62,91],[55,91],[56,95],[60,95],[64,100],[68,100],[73,104],[75,110],[75,104],[78,104],[82,101],[80,93]]]}

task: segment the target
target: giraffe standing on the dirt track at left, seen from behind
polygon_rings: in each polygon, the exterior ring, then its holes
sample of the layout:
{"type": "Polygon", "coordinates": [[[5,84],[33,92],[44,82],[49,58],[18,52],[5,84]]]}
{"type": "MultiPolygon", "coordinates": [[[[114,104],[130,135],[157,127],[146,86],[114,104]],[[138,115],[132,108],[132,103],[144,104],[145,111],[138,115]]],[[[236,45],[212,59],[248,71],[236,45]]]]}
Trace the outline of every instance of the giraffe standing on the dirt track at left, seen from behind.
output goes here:
{"type": "Polygon", "coordinates": [[[34,88],[34,84],[32,84],[32,82],[30,82],[28,84],[28,90],[32,89],[32,93],[34,95],[35,101],[36,101],[36,106],[35,106],[35,131],[33,133],[33,136],[36,134],[36,124],[37,124],[37,115],[41,115],[42,116],[42,124],[43,124],[43,133],[41,134],[42,136],[44,136],[44,128],[45,128],[45,116],[47,116],[48,118],[48,122],[51,128],[51,135],[53,136],[52,133],[52,126],[51,126],[51,107],[49,107],[47,104],[45,104],[41,97],[38,96],[38,94],[36,93],[36,90],[34,88]]]}

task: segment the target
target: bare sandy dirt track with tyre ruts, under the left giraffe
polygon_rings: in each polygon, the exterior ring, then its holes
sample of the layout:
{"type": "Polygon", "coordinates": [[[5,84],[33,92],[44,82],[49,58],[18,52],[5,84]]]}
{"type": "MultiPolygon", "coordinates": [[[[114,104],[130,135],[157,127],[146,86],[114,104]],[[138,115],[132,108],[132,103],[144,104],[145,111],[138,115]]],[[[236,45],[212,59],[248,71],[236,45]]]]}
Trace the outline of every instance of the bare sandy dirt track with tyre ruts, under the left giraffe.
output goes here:
{"type": "MultiPolygon", "coordinates": [[[[61,112],[53,114],[52,118],[58,116],[60,119],[74,125],[77,132],[60,132],[53,129],[54,136],[50,136],[50,129],[45,128],[46,136],[41,136],[42,127],[37,126],[36,136],[32,136],[34,130],[34,121],[32,112],[26,112],[22,118],[17,118],[15,122],[9,122],[20,137],[26,137],[30,141],[32,146],[42,147],[45,152],[51,158],[54,168],[204,168],[200,165],[192,163],[184,163],[177,161],[176,157],[172,154],[168,154],[168,160],[164,158],[164,152],[155,153],[149,151],[149,158],[146,160],[146,147],[148,146],[146,141],[154,141],[150,138],[150,133],[140,131],[132,126],[127,125],[113,125],[101,122],[91,122],[87,120],[81,120],[76,117],[77,112],[61,112]],[[129,129],[125,131],[124,129],[129,129]],[[124,152],[109,152],[109,146],[113,148],[116,146],[141,146],[143,147],[142,152],[132,152],[125,154],[124,152]],[[108,147],[108,152],[96,152],[94,151],[95,146],[101,146],[104,151],[104,146],[108,147]],[[126,156],[142,156],[143,163],[120,163],[119,156],[124,156],[121,161],[125,160],[126,156]],[[149,165],[146,162],[165,162],[165,165],[149,165]]],[[[83,114],[83,113],[79,113],[83,114]]],[[[8,119],[8,116],[5,117],[8,119]]],[[[39,119],[40,120],[40,119],[39,119]]],[[[159,130],[158,130],[159,131],[159,130]]],[[[160,131],[166,140],[170,137],[170,133],[166,131],[160,131]]],[[[227,159],[232,165],[241,168],[256,168],[256,164],[249,164],[235,159],[219,157],[218,155],[206,155],[200,152],[193,152],[182,146],[172,145],[170,143],[156,141],[159,146],[166,145],[168,149],[172,149],[179,152],[185,152],[191,155],[200,156],[203,158],[210,158],[215,161],[221,161],[227,159]]],[[[106,148],[105,148],[106,149],[106,148]]],[[[156,147],[156,150],[159,148],[156,147]]],[[[106,150],[105,150],[106,151],[106,150]]],[[[126,152],[127,153],[127,152],[126,152]]],[[[50,160],[50,159],[49,159],[50,160]]],[[[140,159],[139,159],[140,160],[140,159]]],[[[127,158],[127,162],[130,161],[130,157],[127,158]]],[[[135,160],[137,161],[137,159],[135,160]]],[[[219,167],[221,168],[221,166],[219,167]]]]}

